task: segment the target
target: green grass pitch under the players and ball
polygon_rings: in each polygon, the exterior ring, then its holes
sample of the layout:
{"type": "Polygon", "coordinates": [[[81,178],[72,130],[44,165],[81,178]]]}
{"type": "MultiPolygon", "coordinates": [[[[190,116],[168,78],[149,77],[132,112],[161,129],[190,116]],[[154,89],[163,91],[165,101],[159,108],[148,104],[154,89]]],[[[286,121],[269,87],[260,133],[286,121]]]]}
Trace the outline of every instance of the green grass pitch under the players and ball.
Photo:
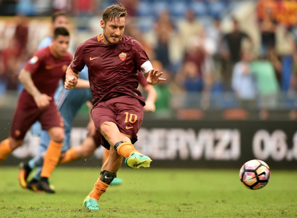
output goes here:
{"type": "Polygon", "coordinates": [[[237,170],[122,169],[124,184],[109,187],[100,211],[82,202],[98,168],[62,168],[56,194],[20,188],[17,168],[0,168],[0,217],[296,217],[297,171],[273,171],[268,185],[248,190],[237,170]]]}

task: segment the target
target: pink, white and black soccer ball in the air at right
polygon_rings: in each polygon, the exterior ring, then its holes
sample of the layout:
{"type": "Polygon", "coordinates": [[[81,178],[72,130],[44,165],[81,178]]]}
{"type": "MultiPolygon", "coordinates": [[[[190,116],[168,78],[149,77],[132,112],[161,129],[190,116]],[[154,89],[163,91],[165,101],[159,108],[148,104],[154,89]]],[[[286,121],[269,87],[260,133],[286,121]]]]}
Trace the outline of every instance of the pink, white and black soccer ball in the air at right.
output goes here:
{"type": "Polygon", "coordinates": [[[262,160],[250,160],[243,164],[239,179],[248,189],[258,190],[267,185],[270,178],[269,166],[262,160]]]}

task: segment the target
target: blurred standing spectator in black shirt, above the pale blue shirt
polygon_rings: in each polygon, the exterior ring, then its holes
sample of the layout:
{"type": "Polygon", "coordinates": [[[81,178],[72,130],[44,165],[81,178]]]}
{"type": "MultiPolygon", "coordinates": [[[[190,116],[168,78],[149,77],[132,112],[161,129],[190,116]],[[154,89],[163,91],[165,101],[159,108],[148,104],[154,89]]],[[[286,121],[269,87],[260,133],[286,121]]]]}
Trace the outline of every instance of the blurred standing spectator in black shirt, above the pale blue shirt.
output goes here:
{"type": "Polygon", "coordinates": [[[240,60],[240,50],[244,39],[249,40],[252,44],[252,39],[240,30],[239,22],[234,19],[232,32],[225,34],[221,42],[221,55],[224,60],[222,66],[222,81],[225,90],[230,90],[231,88],[232,70],[235,63],[240,60]]]}

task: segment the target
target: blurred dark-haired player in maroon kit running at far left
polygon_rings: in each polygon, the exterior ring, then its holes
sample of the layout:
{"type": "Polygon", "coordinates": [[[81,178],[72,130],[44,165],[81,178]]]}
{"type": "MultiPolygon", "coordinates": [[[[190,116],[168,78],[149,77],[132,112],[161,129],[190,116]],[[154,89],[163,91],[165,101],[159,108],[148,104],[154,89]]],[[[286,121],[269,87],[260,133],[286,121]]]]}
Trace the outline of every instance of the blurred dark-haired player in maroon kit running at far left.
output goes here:
{"type": "Polygon", "coordinates": [[[69,32],[64,27],[54,30],[52,45],[38,50],[19,73],[24,90],[19,96],[11,125],[10,137],[0,143],[0,162],[19,147],[26,132],[39,120],[51,138],[45,154],[38,189],[53,192],[48,177],[58,163],[64,139],[63,120],[53,97],[59,80],[65,76],[72,56],[67,52],[69,32]]]}

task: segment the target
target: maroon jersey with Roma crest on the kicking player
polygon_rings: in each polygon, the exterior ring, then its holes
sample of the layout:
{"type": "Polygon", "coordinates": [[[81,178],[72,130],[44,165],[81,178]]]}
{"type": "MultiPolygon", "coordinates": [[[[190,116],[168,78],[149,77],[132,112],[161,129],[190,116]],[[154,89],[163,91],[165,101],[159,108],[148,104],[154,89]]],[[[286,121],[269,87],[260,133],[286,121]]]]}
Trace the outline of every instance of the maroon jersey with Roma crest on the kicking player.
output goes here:
{"type": "Polygon", "coordinates": [[[134,38],[123,35],[118,44],[107,46],[98,35],[76,48],[70,67],[81,71],[85,64],[88,66],[94,107],[114,94],[138,98],[145,105],[136,77],[137,70],[148,60],[144,48],[134,38]]]}

